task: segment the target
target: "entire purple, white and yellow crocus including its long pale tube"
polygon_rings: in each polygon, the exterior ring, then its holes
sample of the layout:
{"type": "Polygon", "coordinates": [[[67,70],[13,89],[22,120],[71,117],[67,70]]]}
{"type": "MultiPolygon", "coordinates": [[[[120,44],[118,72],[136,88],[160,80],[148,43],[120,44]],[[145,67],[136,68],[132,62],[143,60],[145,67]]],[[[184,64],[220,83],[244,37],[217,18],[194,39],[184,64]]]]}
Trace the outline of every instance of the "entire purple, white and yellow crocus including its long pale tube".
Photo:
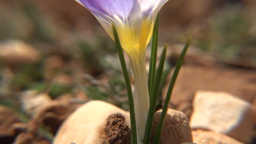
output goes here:
{"type": "Polygon", "coordinates": [[[76,0],[99,20],[114,39],[113,25],[132,63],[135,78],[134,107],[138,143],[143,141],[149,94],[145,51],[153,33],[157,13],[168,0],[76,0]]]}

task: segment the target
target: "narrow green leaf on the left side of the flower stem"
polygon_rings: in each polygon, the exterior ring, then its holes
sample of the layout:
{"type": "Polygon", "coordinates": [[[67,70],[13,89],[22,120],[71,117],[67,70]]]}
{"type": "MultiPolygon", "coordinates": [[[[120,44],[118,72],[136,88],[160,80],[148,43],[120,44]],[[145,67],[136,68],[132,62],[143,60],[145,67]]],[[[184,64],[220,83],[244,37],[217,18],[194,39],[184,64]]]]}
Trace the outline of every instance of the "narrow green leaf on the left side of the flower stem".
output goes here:
{"type": "Polygon", "coordinates": [[[116,31],[116,28],[114,26],[113,26],[113,32],[114,32],[114,37],[115,37],[116,48],[117,48],[118,55],[119,55],[119,60],[120,60],[121,66],[122,66],[123,74],[124,74],[125,84],[126,84],[126,87],[127,87],[129,107],[130,107],[132,144],[137,144],[137,130],[136,130],[135,111],[134,111],[134,103],[133,103],[133,96],[132,96],[132,87],[131,87],[127,67],[126,67],[126,64],[125,64],[123,49],[122,49],[122,46],[119,42],[117,31],[116,31]]]}

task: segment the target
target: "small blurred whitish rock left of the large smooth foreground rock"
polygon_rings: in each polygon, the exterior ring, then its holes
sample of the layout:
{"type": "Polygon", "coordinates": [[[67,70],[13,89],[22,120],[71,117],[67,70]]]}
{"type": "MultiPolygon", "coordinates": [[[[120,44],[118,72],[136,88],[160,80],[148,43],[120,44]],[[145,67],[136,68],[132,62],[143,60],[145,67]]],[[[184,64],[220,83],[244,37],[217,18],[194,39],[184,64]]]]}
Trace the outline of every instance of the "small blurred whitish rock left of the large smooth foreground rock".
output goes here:
{"type": "Polygon", "coordinates": [[[38,93],[35,90],[28,90],[21,94],[20,102],[22,109],[29,115],[34,115],[39,109],[47,105],[51,98],[46,93],[38,93]]]}

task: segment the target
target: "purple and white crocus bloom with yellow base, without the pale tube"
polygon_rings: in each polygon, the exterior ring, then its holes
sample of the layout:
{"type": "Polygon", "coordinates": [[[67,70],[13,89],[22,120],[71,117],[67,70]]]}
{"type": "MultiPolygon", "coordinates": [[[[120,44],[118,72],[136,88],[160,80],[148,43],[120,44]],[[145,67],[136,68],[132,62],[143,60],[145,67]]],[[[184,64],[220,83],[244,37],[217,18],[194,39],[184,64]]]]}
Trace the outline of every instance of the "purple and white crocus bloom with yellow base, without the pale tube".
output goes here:
{"type": "Polygon", "coordinates": [[[156,15],[168,0],[76,0],[99,20],[114,39],[112,25],[127,54],[145,52],[156,15]]]}

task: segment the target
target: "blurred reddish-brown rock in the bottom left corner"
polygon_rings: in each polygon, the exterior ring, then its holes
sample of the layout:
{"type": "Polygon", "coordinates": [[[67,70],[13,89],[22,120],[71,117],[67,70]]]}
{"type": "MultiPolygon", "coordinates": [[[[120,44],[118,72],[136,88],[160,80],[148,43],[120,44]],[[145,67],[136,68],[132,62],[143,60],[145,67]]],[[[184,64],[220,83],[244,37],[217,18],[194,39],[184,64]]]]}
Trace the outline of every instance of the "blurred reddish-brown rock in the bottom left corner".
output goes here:
{"type": "Polygon", "coordinates": [[[12,143],[18,134],[13,125],[19,123],[20,119],[13,110],[0,107],[0,142],[12,143]]]}

